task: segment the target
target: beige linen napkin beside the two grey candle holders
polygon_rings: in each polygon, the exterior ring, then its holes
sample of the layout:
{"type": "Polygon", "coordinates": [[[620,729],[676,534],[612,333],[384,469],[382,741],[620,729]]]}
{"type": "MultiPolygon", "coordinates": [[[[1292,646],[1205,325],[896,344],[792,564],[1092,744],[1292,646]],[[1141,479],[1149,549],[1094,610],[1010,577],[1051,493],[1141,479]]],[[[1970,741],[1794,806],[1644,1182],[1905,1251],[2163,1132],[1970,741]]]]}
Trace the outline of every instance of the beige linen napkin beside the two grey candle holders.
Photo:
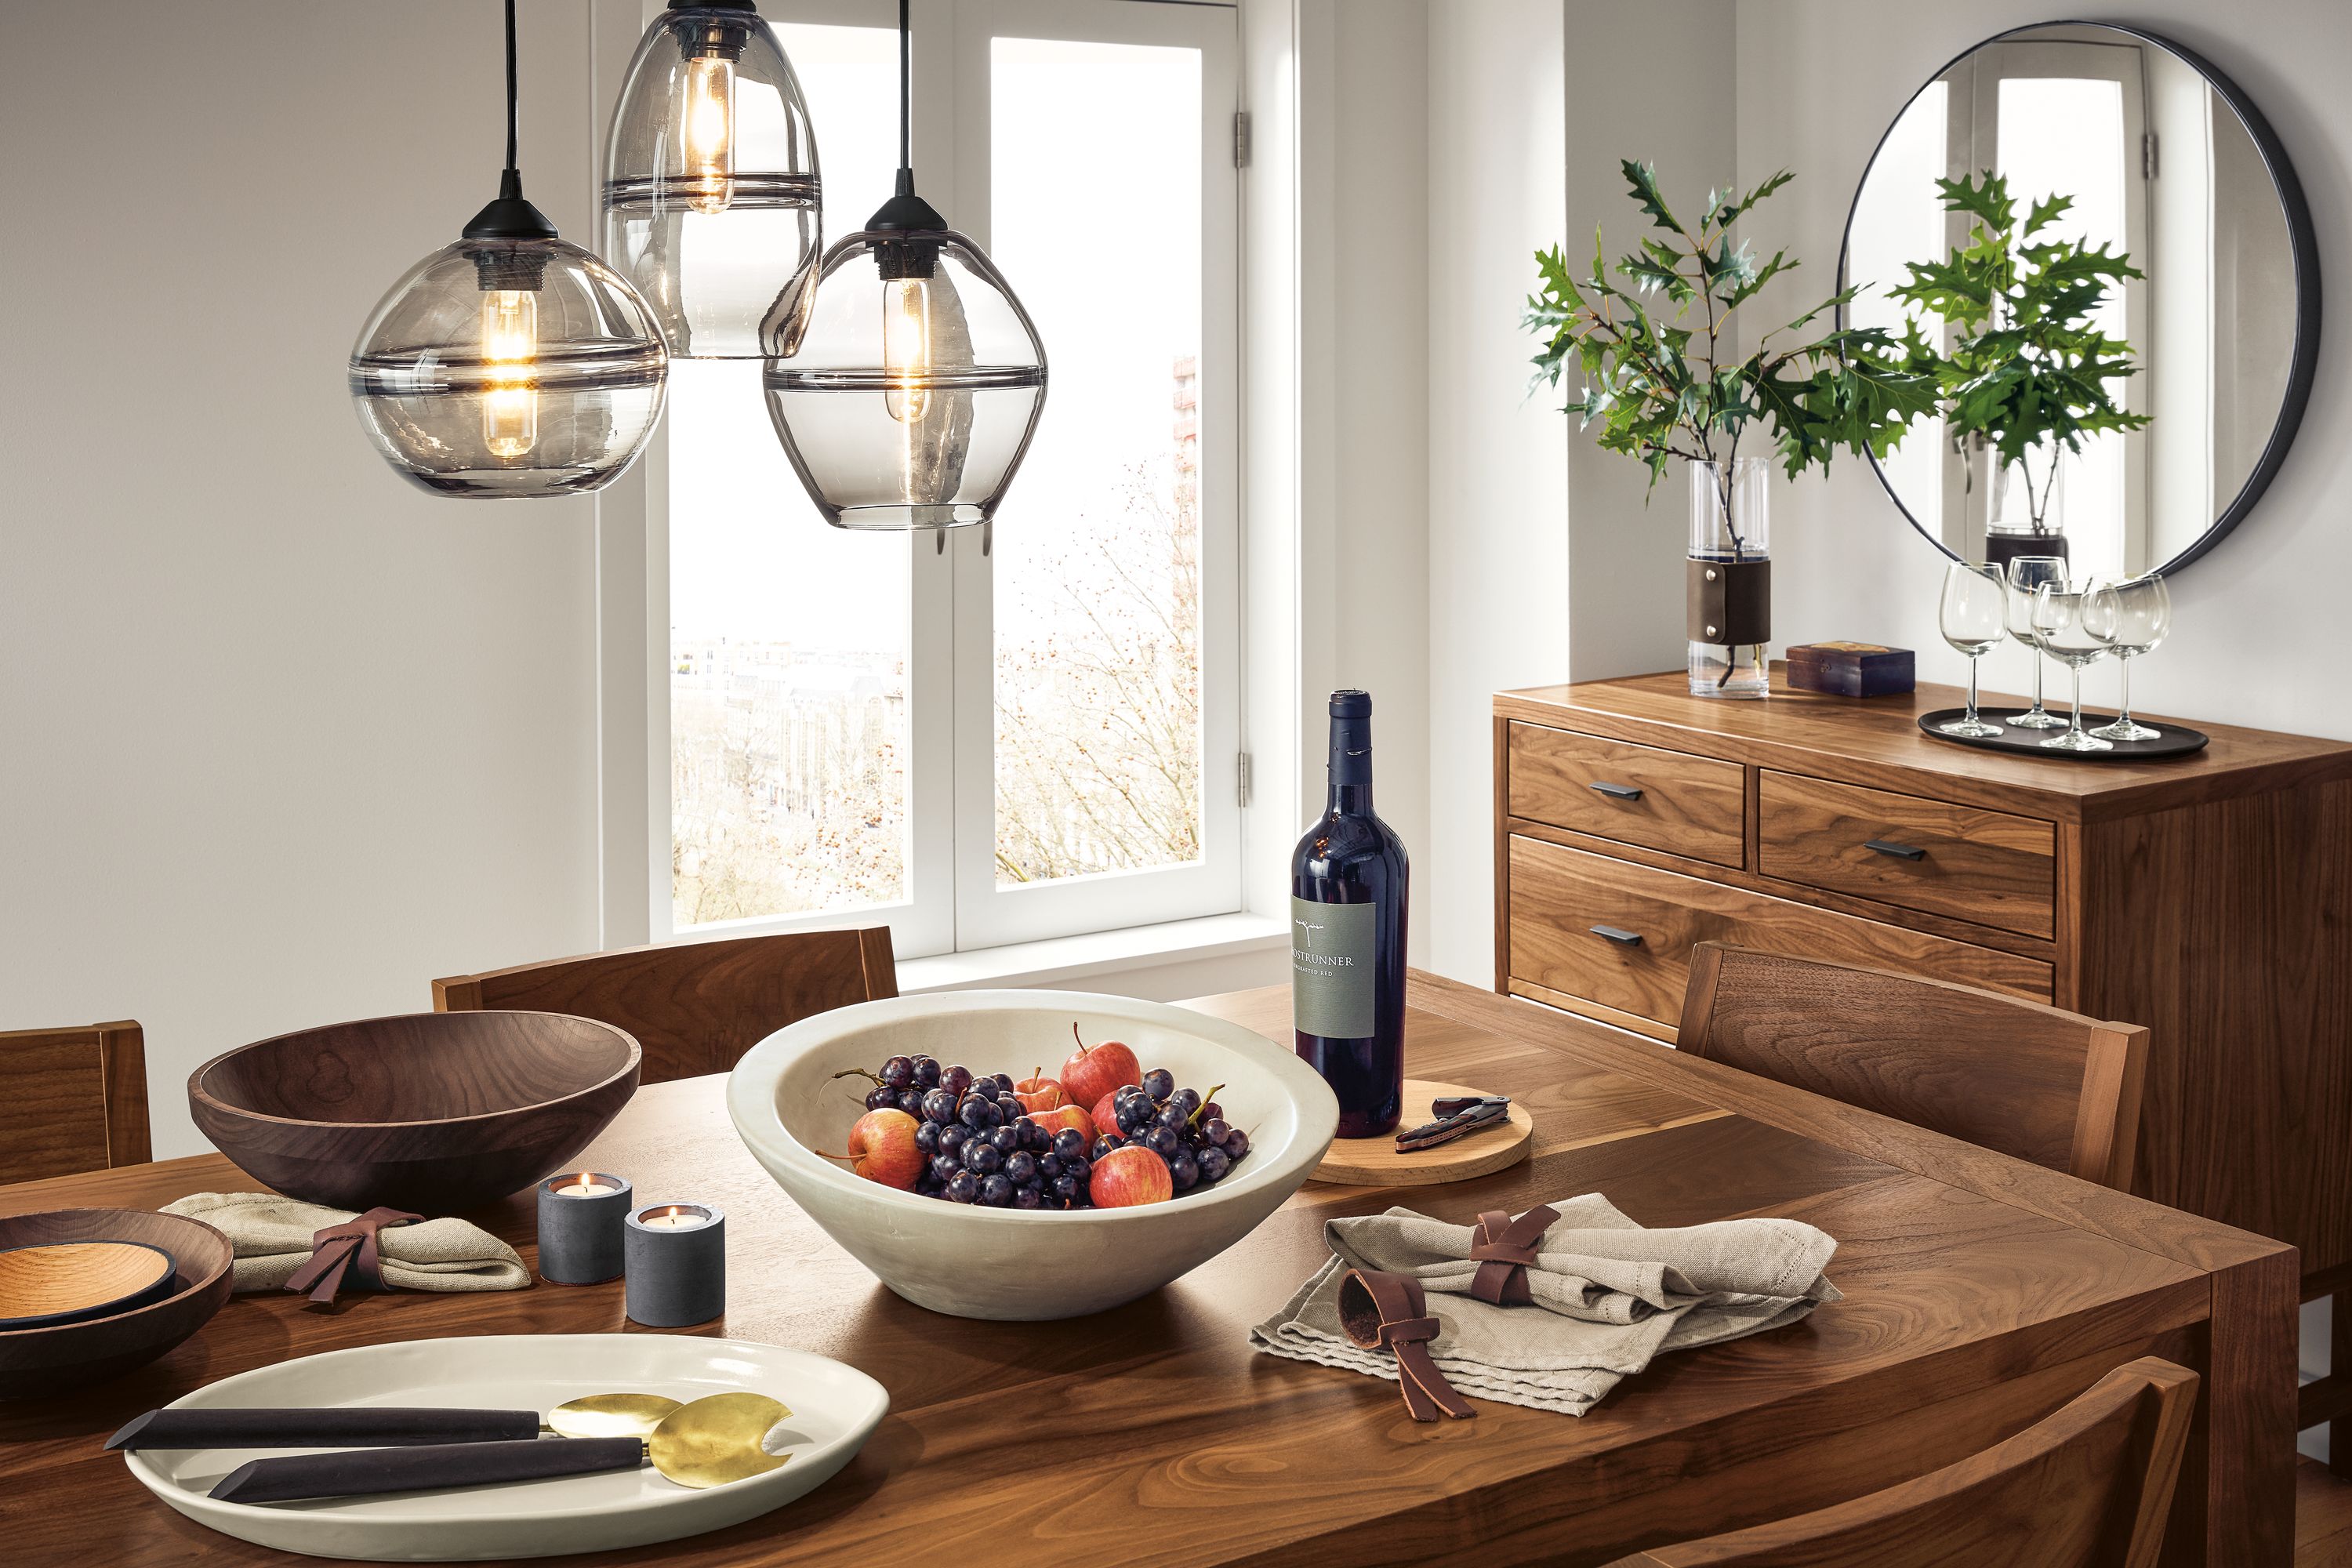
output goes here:
{"type": "MultiPolygon", "coordinates": [[[[355,1215],[275,1192],[195,1192],[162,1206],[205,1220],[235,1248],[230,1291],[278,1291],[310,1262],[310,1239],[355,1215]]],[[[532,1284],[506,1241],[470,1220],[423,1220],[376,1232],[383,1284],[395,1291],[520,1291],[532,1284]]]]}

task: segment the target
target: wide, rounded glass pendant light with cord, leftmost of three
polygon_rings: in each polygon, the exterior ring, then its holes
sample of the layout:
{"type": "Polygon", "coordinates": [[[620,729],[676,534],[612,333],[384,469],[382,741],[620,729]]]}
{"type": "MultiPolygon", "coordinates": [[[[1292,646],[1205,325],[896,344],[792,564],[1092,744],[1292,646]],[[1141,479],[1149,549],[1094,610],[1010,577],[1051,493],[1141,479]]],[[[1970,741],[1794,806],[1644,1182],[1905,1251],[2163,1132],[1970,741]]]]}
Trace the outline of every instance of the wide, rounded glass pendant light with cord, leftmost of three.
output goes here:
{"type": "Polygon", "coordinates": [[[437,496],[576,496],[644,449],[668,362],[637,292],[522,200],[506,0],[499,200],[367,320],[350,350],[360,423],[393,470],[437,496]]]}

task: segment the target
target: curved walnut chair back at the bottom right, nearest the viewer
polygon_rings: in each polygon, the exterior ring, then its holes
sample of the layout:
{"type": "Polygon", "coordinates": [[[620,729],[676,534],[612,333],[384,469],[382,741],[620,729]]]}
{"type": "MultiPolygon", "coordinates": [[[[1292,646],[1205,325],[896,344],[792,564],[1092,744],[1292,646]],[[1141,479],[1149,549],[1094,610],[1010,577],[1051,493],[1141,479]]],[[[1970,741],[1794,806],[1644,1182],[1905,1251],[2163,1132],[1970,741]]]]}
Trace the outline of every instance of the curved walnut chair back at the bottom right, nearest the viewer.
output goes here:
{"type": "Polygon", "coordinates": [[[2154,1568],[2194,1408],[2197,1373],[2140,1356],[1917,1481],[1616,1568],[2154,1568]]]}

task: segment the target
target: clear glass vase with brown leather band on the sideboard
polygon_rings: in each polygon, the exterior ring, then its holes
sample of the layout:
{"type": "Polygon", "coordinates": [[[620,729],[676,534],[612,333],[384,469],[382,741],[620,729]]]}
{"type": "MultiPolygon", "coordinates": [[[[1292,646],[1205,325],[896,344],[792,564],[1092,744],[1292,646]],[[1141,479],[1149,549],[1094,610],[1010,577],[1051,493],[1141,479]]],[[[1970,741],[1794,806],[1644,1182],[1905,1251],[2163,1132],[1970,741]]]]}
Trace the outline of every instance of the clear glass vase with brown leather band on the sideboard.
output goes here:
{"type": "Polygon", "coordinates": [[[1691,696],[1766,696],[1771,670],[1771,461],[1691,470],[1691,696]]]}

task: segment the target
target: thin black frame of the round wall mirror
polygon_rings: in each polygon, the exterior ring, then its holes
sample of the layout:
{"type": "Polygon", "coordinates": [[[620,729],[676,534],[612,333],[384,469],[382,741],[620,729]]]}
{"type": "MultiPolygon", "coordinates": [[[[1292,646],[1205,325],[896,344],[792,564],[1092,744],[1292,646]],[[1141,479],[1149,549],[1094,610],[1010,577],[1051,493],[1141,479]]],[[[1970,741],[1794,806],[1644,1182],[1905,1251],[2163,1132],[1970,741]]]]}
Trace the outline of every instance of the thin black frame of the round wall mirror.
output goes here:
{"type": "MultiPolygon", "coordinates": [[[[2105,28],[2110,33],[2124,33],[2129,38],[2138,38],[2140,42],[2157,45],[2159,49],[2169,49],[2178,59],[2194,66],[2206,85],[2211,85],[2213,92],[2218,92],[2223,101],[2237,110],[2246,134],[2253,136],[2253,148],[2263,155],[2270,183],[2279,193],[2279,207],[2286,212],[2286,242],[2296,254],[2296,350],[2286,369],[2286,395],[2279,400],[2279,418],[2270,428],[2270,442],[2263,447],[2263,456],[2256,458],[2253,470],[2246,475],[2246,484],[2239,487],[2237,496],[2227,508],[2223,508],[2220,517],[2216,517],[2213,524],[2197,536],[2197,543],[2152,569],[2154,576],[2171,576],[2218,545],[2223,536],[2227,536],[2230,529],[2234,529],[2246,512],[2253,510],[2253,503],[2263,498],[2263,491],[2270,489],[2272,475],[2277,475],[2279,463],[2286,461],[2286,449],[2296,442],[2296,430],[2303,425],[2303,409],[2312,400],[2312,378],[2319,374],[2319,235],[2312,230],[2310,202],[2303,200],[2303,181],[2296,179],[2296,165],[2288,162],[2286,148],[2279,143],[2279,134],[2270,129],[2270,120],[2263,118],[2263,110],[2253,106],[2253,99],[2249,99],[2237,82],[2223,75],[2213,61],[2180,42],[2173,42],[2164,33],[2152,33],[2126,21],[2034,21],[1969,45],[1938,66],[1936,73],[1912,92],[1912,96],[1903,99],[1903,108],[1896,110],[1896,118],[1886,122],[1884,132],[1879,132],[1877,146],[1870,148],[1870,162],[1863,165],[1863,176],[1853,186],[1853,202],[1846,207],[1846,228],[1837,240],[1837,287],[1844,289],[1849,282],[1846,254],[1853,242],[1853,214],[1860,209],[1863,190],[1870,186],[1870,169],[1877,167],[1879,153],[1886,150],[1886,136],[1891,136],[1893,127],[1903,122],[1910,106],[1919,101],[1919,94],[1926,92],[1931,82],[1940,82],[1945,71],[1978,49],[1997,45],[2006,38],[2039,33],[2042,28],[2105,28]]],[[[1844,306],[1837,308],[1837,324],[1849,324],[1844,306]]],[[[1940,538],[1929,534],[1919,520],[1910,515],[1910,508],[1903,505],[1903,496],[1898,496],[1896,487],[1886,482],[1886,470],[1879,468],[1877,456],[1870,458],[1870,473],[1879,477],[1879,487],[1886,491],[1886,498],[1893,501],[1898,512],[1903,512],[1903,522],[1917,529],[1919,538],[1936,545],[1936,550],[1950,559],[1959,559],[1940,538]]]]}

